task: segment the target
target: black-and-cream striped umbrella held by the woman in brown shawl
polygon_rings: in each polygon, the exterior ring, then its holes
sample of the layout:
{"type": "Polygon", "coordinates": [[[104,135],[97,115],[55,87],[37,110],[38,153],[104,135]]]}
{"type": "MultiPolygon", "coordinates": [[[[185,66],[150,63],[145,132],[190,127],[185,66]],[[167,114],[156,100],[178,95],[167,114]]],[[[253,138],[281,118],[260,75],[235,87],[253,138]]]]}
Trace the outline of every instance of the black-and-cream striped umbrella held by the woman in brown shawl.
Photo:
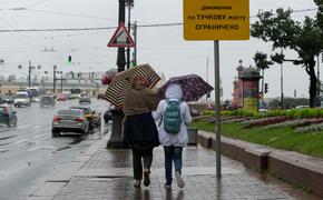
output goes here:
{"type": "Polygon", "coordinates": [[[160,80],[160,77],[154,71],[154,69],[147,64],[140,64],[136,68],[131,68],[117,73],[111,83],[106,90],[106,93],[101,97],[116,107],[124,104],[126,94],[131,88],[131,81],[136,77],[146,77],[149,81],[149,88],[154,88],[160,80]]]}

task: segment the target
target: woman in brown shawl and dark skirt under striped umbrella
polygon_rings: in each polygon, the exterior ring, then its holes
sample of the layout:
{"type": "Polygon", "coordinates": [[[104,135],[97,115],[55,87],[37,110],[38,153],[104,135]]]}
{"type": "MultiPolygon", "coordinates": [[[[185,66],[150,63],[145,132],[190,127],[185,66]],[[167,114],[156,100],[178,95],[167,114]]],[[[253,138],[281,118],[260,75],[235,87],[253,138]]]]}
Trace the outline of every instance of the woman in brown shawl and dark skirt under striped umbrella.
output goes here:
{"type": "Polygon", "coordinates": [[[158,104],[157,94],[147,88],[145,77],[136,77],[131,82],[131,89],[127,92],[123,106],[125,113],[124,139],[133,149],[134,187],[139,188],[150,184],[149,173],[153,162],[153,149],[159,144],[158,131],[151,116],[158,104]]]}

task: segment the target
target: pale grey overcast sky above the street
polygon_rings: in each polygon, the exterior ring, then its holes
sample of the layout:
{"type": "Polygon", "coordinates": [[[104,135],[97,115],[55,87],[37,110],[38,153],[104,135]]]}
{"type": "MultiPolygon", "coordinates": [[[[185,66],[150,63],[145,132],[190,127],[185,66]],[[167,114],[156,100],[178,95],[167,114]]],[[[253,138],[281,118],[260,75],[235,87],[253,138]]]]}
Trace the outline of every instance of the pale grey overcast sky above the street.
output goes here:
{"type": "MultiPolygon", "coordinates": [[[[254,22],[260,9],[304,10],[316,6],[312,0],[251,0],[249,8],[251,22],[254,22]]],[[[303,21],[305,16],[313,17],[315,12],[297,12],[293,18],[303,21]]],[[[137,21],[138,26],[182,23],[183,1],[135,0],[131,21],[137,21]]],[[[1,30],[114,28],[117,24],[118,0],[0,0],[1,30]]],[[[29,60],[33,66],[41,66],[42,71],[51,71],[53,64],[66,72],[116,68],[117,49],[107,48],[114,31],[0,32],[0,59],[4,60],[0,72],[27,74],[29,60]],[[51,49],[55,51],[48,51],[51,49]],[[69,54],[75,64],[66,64],[69,54]],[[22,64],[21,70],[18,70],[19,64],[22,64]]],[[[150,63],[156,71],[164,72],[166,78],[197,73],[214,86],[213,41],[185,41],[183,26],[138,28],[137,49],[138,63],[150,63]]],[[[271,53],[271,46],[253,38],[247,41],[219,41],[219,51],[224,99],[232,99],[238,60],[243,60],[244,67],[254,66],[254,53],[271,53]]],[[[287,54],[296,57],[294,52],[287,54]]],[[[266,70],[265,82],[270,86],[267,97],[278,97],[280,66],[266,70]]],[[[285,63],[285,97],[293,97],[294,90],[297,90],[297,97],[309,97],[309,77],[301,66],[285,63]]]]}

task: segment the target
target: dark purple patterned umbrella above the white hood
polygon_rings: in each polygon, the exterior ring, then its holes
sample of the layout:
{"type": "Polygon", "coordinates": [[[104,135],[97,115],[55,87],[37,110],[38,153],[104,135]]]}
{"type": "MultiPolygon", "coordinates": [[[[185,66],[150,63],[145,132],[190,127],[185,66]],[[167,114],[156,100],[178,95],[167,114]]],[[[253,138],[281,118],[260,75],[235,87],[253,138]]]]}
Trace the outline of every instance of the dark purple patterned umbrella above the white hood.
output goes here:
{"type": "Polygon", "coordinates": [[[172,83],[177,83],[182,87],[183,99],[185,101],[197,101],[204,94],[213,90],[213,88],[197,74],[173,77],[157,90],[159,99],[165,99],[166,89],[172,83]]]}

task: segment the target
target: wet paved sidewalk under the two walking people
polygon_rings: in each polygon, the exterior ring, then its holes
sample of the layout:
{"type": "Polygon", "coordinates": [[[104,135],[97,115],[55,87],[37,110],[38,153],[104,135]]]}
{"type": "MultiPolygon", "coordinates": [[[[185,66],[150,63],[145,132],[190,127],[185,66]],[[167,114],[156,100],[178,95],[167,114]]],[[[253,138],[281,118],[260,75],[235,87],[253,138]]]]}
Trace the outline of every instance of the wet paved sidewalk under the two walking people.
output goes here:
{"type": "MultiPolygon", "coordinates": [[[[107,136],[108,137],[108,136],[107,136]]],[[[241,163],[222,157],[222,178],[216,178],[215,151],[188,146],[183,151],[185,188],[174,181],[172,190],[164,189],[164,151],[154,149],[149,187],[135,189],[133,184],[131,150],[106,149],[107,137],[97,141],[79,158],[65,166],[60,173],[31,193],[28,200],[268,200],[311,199],[241,163]]]]}

